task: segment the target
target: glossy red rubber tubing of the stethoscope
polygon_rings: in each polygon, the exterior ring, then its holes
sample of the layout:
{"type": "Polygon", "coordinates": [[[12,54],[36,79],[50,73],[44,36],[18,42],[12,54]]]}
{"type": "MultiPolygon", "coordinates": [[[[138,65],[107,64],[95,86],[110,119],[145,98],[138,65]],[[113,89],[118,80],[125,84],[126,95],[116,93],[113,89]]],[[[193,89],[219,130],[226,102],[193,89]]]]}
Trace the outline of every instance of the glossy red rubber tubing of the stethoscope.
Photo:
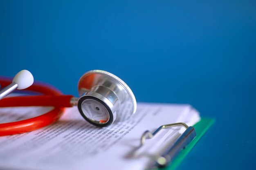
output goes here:
{"type": "MultiPolygon", "coordinates": [[[[11,79],[0,77],[1,87],[6,87],[11,83],[11,79]]],[[[0,124],[0,136],[30,132],[52,124],[61,117],[65,107],[72,107],[70,104],[72,95],[63,95],[61,91],[48,84],[34,82],[26,91],[41,93],[43,95],[6,97],[0,100],[0,107],[54,106],[55,108],[37,117],[0,124]]]]}

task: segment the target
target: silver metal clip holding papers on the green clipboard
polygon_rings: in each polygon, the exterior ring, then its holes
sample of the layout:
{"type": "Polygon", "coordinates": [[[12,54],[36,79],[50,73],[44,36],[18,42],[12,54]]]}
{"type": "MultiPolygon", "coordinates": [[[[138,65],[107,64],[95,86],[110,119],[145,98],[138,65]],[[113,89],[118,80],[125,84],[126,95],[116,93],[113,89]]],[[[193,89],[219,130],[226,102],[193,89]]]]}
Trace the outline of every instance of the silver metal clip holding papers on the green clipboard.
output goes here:
{"type": "Polygon", "coordinates": [[[155,162],[152,164],[152,166],[150,166],[149,169],[154,169],[157,167],[162,168],[170,164],[173,159],[178,155],[178,153],[186,148],[186,146],[195,138],[196,133],[195,129],[192,126],[187,126],[186,124],[181,122],[166,124],[157,128],[157,130],[155,130],[153,133],[151,133],[149,130],[145,131],[141,136],[141,146],[144,145],[147,137],[153,138],[155,134],[157,134],[157,132],[159,132],[161,129],[166,129],[174,126],[183,126],[186,128],[186,130],[177,139],[177,141],[175,141],[173,145],[171,145],[162,155],[156,158],[155,162]]]}

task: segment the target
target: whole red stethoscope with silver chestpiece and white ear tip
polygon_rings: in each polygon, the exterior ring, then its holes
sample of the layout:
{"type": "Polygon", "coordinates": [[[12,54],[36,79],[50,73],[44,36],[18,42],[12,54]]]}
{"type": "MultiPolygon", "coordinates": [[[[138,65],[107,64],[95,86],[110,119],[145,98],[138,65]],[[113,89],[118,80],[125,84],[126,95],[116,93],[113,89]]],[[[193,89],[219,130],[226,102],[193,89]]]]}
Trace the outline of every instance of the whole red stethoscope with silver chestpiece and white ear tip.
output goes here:
{"type": "Polygon", "coordinates": [[[57,121],[65,107],[77,106],[83,118],[95,126],[109,126],[114,121],[124,121],[136,112],[137,103],[129,86],[119,77],[102,70],[85,73],[78,82],[79,98],[63,95],[61,91],[39,82],[22,70],[13,78],[0,78],[4,87],[0,91],[0,107],[54,106],[54,109],[26,120],[0,124],[0,136],[14,135],[42,128],[57,121]],[[7,96],[16,89],[41,95],[7,96]]]}

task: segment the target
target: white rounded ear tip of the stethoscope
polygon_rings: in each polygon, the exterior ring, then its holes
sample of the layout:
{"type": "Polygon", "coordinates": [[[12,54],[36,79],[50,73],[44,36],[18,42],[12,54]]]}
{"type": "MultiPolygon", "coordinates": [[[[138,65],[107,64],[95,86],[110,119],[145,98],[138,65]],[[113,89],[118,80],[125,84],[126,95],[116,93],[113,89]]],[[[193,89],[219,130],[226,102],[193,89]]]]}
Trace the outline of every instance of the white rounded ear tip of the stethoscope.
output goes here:
{"type": "Polygon", "coordinates": [[[34,77],[29,71],[22,70],[15,75],[12,82],[18,84],[17,89],[22,90],[33,84],[34,77]]]}

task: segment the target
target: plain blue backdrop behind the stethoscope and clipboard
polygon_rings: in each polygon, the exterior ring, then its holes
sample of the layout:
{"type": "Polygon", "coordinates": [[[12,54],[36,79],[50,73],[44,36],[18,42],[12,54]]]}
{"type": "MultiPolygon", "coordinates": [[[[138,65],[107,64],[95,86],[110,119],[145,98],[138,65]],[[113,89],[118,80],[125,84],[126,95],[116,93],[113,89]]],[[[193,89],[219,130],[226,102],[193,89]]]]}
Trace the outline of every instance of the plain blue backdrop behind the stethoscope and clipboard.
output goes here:
{"type": "Polygon", "coordinates": [[[256,169],[256,1],[1,0],[0,63],[66,94],[102,69],[139,102],[192,104],[217,121],[178,169],[256,169]]]}

